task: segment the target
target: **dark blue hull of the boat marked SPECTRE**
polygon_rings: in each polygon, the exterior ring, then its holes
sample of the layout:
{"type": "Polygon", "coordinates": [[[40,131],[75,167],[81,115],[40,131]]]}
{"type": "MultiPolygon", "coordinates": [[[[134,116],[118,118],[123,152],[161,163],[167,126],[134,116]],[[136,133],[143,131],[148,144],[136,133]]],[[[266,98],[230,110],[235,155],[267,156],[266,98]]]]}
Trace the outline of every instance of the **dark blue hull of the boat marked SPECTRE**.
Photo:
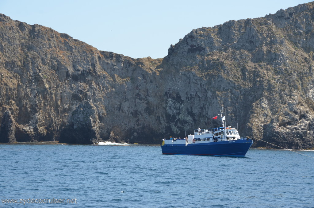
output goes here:
{"type": "Polygon", "coordinates": [[[212,155],[244,157],[253,144],[252,140],[207,142],[188,145],[163,145],[162,154],[168,155],[212,155]]]}

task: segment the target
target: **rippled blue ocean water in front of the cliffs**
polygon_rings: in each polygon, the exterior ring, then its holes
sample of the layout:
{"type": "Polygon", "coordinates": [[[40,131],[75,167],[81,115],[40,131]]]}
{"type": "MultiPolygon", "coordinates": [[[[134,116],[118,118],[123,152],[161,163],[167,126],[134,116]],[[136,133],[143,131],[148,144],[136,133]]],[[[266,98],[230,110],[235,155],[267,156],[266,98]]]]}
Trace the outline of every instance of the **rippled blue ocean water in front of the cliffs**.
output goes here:
{"type": "Polygon", "coordinates": [[[162,155],[149,145],[2,144],[0,207],[313,208],[313,165],[284,150],[237,158],[162,155]]]}

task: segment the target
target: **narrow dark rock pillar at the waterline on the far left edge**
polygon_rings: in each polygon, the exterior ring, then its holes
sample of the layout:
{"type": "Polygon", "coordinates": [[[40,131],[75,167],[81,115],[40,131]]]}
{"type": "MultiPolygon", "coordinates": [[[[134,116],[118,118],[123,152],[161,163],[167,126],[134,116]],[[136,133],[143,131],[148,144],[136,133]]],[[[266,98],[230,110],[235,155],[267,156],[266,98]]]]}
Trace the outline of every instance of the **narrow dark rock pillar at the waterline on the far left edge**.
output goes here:
{"type": "Polygon", "coordinates": [[[15,139],[15,121],[9,110],[3,114],[2,122],[0,125],[0,142],[12,143],[16,142],[15,139]]]}

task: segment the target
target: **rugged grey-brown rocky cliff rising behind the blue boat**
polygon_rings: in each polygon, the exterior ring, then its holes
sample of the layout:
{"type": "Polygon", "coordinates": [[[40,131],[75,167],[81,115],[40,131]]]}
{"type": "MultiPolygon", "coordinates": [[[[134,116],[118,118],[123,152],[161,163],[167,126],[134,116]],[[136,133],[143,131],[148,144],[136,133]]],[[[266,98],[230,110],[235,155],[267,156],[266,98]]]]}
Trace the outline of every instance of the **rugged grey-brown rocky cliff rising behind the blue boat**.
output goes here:
{"type": "Polygon", "coordinates": [[[160,143],[220,125],[224,105],[242,135],[314,148],[313,6],[192,30],[162,59],[0,15],[1,141],[160,143]]]}

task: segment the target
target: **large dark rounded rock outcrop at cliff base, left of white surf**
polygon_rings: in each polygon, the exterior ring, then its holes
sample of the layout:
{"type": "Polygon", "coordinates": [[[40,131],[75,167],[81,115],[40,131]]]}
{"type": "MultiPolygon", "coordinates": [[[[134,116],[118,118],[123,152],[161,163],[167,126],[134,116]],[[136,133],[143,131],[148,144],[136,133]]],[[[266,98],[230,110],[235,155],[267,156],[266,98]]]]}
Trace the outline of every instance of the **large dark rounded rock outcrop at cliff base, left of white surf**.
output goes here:
{"type": "Polygon", "coordinates": [[[90,100],[78,104],[61,129],[60,143],[95,144],[101,141],[96,107],[90,100]]]}

